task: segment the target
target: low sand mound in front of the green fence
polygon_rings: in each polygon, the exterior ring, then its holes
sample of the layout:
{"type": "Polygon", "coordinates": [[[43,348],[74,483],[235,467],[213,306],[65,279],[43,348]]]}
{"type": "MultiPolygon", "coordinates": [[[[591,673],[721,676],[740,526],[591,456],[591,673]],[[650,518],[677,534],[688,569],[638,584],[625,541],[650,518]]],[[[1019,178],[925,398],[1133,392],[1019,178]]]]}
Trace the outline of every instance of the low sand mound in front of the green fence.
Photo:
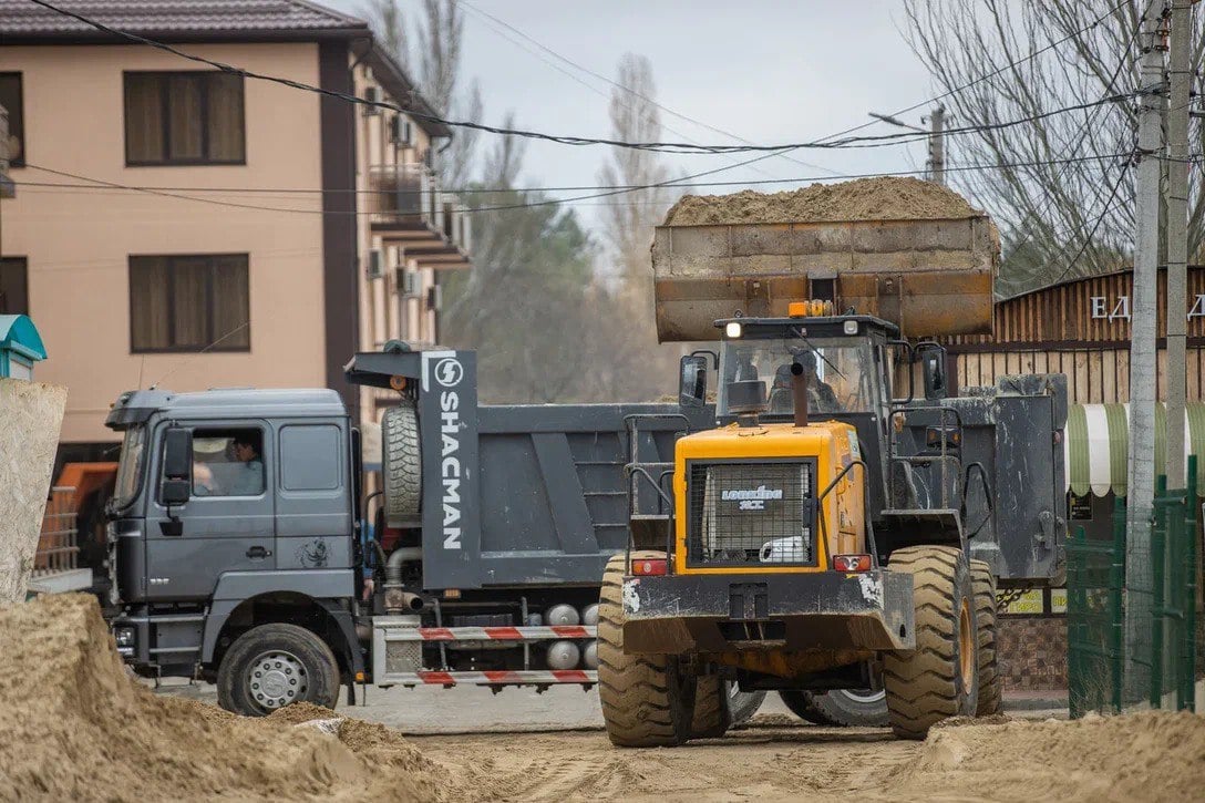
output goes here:
{"type": "Polygon", "coordinates": [[[930,732],[900,787],[890,791],[930,799],[1192,801],[1205,790],[1199,715],[975,722],[930,732]]]}

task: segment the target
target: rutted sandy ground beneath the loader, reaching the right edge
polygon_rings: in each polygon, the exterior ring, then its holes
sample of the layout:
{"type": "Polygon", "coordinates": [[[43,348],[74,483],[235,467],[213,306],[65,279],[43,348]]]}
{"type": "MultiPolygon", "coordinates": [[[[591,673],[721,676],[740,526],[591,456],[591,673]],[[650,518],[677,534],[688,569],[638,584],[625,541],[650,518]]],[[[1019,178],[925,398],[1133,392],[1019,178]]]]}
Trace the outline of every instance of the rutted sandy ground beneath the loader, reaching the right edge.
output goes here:
{"type": "Polygon", "coordinates": [[[410,737],[478,799],[1191,801],[1205,721],[978,721],[927,742],[758,717],[724,739],[617,750],[599,732],[410,737]]]}

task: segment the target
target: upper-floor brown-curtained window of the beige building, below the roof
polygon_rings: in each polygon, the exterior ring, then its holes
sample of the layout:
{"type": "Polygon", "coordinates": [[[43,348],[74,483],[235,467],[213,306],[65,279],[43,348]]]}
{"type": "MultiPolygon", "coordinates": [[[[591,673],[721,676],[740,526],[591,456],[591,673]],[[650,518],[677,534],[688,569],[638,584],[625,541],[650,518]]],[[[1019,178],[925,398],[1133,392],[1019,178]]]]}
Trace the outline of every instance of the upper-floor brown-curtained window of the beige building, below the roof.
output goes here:
{"type": "Polygon", "coordinates": [[[242,76],[127,72],[125,164],[246,164],[242,76]]]}

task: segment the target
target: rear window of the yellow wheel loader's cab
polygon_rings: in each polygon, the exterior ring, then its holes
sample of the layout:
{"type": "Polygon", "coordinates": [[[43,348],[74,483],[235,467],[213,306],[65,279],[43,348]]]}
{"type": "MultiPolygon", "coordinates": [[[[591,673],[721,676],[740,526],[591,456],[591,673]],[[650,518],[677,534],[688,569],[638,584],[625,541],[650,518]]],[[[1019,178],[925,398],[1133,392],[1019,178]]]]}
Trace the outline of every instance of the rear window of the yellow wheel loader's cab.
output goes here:
{"type": "Polygon", "coordinates": [[[811,412],[875,411],[875,370],[870,344],[864,338],[812,339],[812,348],[798,338],[728,340],[719,352],[721,416],[728,411],[728,383],[760,380],[766,386],[766,415],[789,416],[794,410],[790,364],[804,367],[811,412]]]}

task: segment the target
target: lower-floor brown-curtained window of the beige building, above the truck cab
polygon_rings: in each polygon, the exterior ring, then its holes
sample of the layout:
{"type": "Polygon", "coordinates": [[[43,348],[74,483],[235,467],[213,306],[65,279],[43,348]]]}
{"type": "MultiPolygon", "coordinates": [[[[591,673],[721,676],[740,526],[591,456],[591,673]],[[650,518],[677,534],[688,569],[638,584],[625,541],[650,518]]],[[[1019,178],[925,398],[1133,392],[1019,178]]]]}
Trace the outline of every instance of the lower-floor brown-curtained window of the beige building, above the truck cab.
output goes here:
{"type": "Polygon", "coordinates": [[[130,351],[249,351],[247,254],[130,257],[130,351]]]}

